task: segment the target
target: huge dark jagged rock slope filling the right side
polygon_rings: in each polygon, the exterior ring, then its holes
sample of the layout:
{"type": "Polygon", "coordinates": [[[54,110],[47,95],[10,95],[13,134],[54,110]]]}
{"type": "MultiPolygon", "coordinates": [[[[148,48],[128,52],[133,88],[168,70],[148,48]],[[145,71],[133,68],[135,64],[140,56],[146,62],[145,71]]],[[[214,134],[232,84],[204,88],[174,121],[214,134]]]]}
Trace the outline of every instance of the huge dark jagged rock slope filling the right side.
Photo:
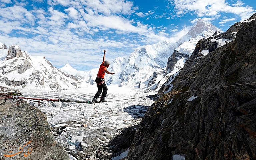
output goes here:
{"type": "Polygon", "coordinates": [[[256,20],[241,25],[219,48],[198,42],[171,92],[147,111],[125,159],[256,159],[256,84],[239,85],[256,79],[256,20]],[[207,46],[213,50],[202,56],[207,46]]]}

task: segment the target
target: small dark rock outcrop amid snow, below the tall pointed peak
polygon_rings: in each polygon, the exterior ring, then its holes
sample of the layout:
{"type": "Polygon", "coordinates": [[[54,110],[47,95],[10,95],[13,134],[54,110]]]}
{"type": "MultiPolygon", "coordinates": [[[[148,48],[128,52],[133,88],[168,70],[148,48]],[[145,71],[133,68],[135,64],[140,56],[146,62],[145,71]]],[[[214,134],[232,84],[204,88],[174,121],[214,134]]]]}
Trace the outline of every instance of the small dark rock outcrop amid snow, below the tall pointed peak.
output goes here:
{"type": "MultiPolygon", "coordinates": [[[[166,65],[166,76],[168,73],[171,73],[171,71],[174,69],[175,64],[178,62],[179,59],[185,59],[186,61],[188,60],[189,55],[180,53],[179,51],[174,50],[172,56],[168,58],[167,65],[166,65]]],[[[181,66],[177,66],[181,67],[181,66]]],[[[183,66],[182,66],[183,67],[183,66]]],[[[181,68],[178,68],[178,70],[181,68]]]]}

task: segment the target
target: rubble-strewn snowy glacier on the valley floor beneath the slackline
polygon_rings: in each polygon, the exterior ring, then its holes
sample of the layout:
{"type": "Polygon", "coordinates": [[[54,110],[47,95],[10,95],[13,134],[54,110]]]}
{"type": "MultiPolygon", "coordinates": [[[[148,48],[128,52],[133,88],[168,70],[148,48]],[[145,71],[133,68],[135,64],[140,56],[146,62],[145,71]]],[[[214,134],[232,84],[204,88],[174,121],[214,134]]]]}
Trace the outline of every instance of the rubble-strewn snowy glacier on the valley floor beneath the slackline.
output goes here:
{"type": "MultiPolygon", "coordinates": [[[[96,92],[96,85],[77,90],[21,90],[24,97],[63,98],[79,101],[91,101],[96,92]]],[[[108,86],[106,100],[128,99],[153,94],[156,93],[142,89],[120,88],[117,85],[108,86]]],[[[26,101],[31,103],[31,101],[26,101]]],[[[138,98],[96,103],[95,106],[86,103],[50,103],[47,101],[40,102],[40,106],[37,102],[31,104],[46,114],[56,139],[69,153],[72,148],[74,149],[74,143],[77,141],[82,142],[82,145],[90,150],[95,145],[105,146],[123,128],[139,124],[152,103],[153,101],[149,98],[138,98]],[[66,128],[59,130],[63,126],[66,128]],[[61,131],[61,134],[57,133],[58,130],[61,131]]],[[[83,153],[87,154],[86,151],[83,153]]]]}

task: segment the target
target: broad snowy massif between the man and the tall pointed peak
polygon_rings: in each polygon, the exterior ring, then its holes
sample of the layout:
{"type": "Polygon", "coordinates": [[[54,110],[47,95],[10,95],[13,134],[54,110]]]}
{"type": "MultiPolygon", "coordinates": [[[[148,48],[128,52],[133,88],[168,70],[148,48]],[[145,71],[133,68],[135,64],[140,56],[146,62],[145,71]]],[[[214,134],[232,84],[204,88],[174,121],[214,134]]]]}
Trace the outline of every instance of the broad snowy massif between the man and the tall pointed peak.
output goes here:
{"type": "Polygon", "coordinates": [[[136,48],[128,58],[116,58],[109,68],[115,74],[106,76],[107,84],[144,88],[152,80],[161,80],[167,62],[166,59],[175,45],[167,41],[159,42],[143,48],[136,48]],[[154,74],[154,72],[156,73],[154,74]]]}

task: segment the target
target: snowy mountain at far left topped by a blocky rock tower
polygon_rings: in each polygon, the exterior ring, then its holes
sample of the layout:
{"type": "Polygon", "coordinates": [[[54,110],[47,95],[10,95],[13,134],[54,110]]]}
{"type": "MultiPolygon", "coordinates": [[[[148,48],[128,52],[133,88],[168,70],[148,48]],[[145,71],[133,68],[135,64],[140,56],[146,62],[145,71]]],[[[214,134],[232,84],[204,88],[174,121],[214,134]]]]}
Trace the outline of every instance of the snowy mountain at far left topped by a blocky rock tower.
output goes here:
{"type": "Polygon", "coordinates": [[[5,58],[0,62],[1,86],[37,89],[80,86],[79,81],[59,71],[45,57],[30,56],[26,52],[22,52],[18,45],[12,45],[7,53],[2,53],[5,58]]]}

